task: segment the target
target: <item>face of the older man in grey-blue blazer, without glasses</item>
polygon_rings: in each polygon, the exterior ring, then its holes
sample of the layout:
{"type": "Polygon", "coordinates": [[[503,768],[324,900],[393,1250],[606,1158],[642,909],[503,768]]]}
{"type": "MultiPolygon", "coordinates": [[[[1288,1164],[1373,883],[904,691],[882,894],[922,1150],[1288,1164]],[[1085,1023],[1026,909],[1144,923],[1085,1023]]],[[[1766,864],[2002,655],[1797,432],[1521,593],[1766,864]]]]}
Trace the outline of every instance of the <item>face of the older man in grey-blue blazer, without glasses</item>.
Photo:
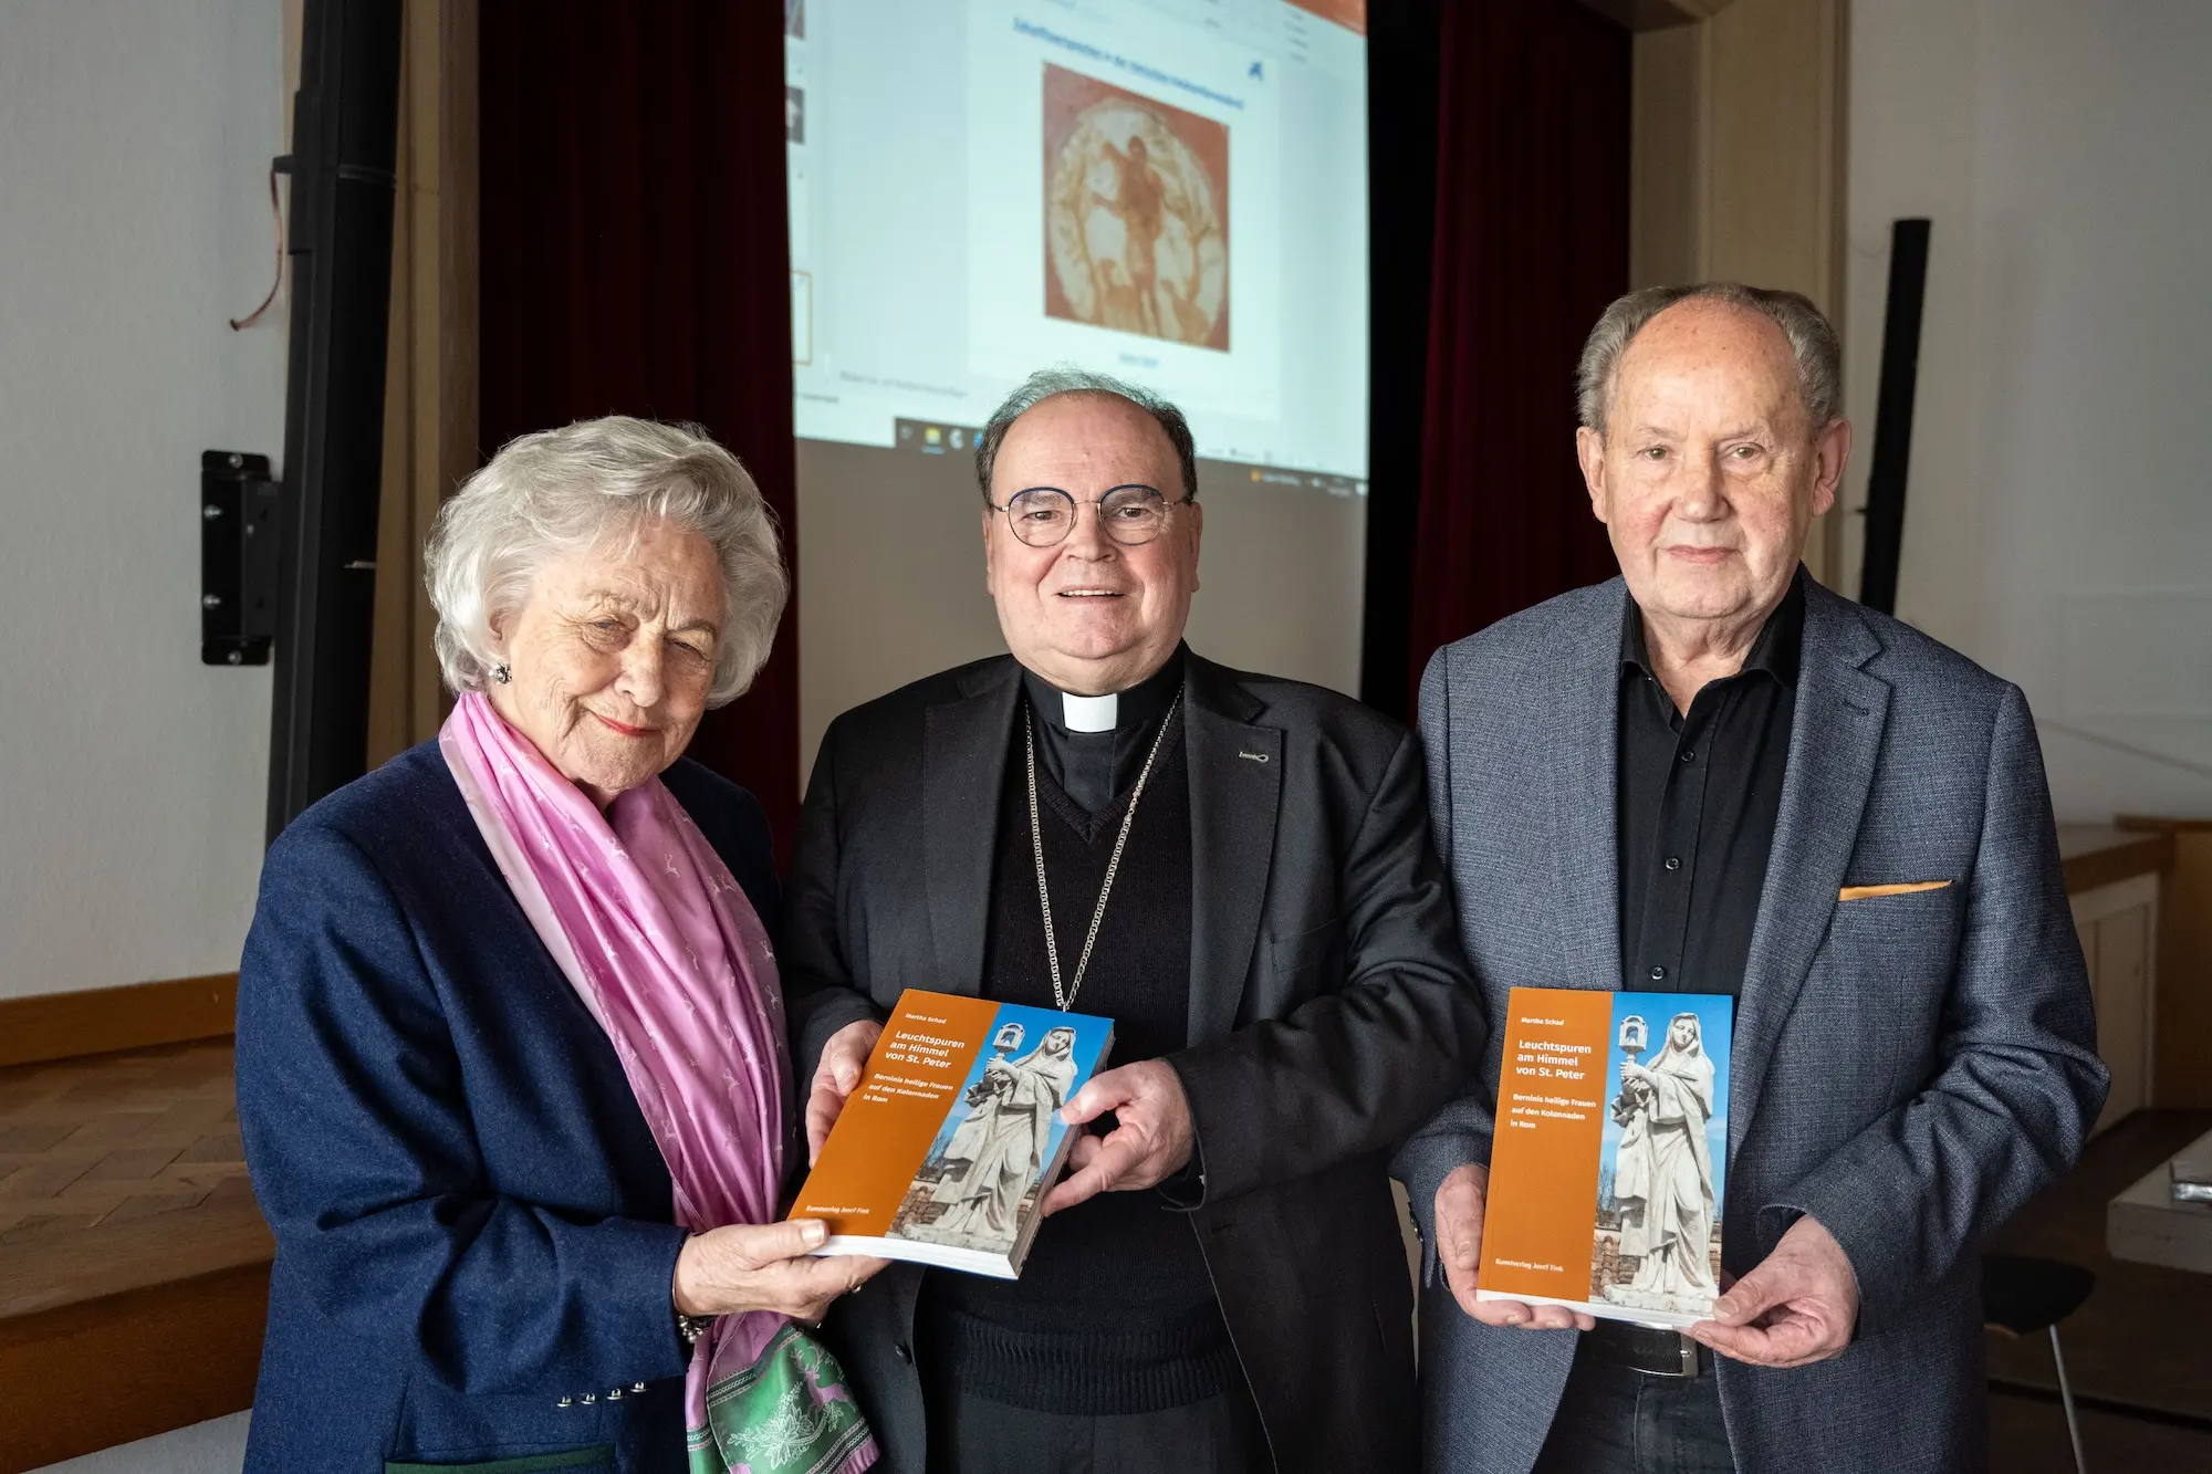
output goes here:
{"type": "Polygon", "coordinates": [[[1781,328],[1692,299],[1628,343],[1606,434],[1586,427],[1575,449],[1637,606],[1725,622],[1781,604],[1851,427],[1805,421],[1781,328]]]}

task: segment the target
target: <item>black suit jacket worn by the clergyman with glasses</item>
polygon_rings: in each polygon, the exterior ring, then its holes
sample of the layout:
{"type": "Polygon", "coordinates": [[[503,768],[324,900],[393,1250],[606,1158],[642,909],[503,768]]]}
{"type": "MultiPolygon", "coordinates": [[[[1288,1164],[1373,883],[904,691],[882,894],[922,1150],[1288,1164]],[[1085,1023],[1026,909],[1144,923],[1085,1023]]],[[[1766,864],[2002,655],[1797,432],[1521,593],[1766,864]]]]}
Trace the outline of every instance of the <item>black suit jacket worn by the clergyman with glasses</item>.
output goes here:
{"type": "MultiPolygon", "coordinates": [[[[1413,1295],[1385,1158],[1482,1047],[1420,746],[1332,691],[1188,657],[1190,1204],[1279,1470],[1416,1459],[1413,1295]]],[[[975,994],[1020,668],[984,660],[832,724],[785,899],[799,1080],[905,987],[975,994]]],[[[1051,1226],[1046,1226],[1051,1233],[1051,1226]]],[[[887,1474],[920,1474],[920,1270],[830,1337],[887,1474]]]]}

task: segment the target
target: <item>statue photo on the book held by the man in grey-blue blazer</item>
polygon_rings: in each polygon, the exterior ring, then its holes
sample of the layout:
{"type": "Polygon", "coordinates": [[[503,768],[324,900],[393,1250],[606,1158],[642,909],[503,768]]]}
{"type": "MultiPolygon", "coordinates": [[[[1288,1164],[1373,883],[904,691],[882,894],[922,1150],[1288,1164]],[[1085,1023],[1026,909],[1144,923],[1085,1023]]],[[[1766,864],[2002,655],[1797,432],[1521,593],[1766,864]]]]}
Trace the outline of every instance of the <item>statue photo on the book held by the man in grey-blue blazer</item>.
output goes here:
{"type": "Polygon", "coordinates": [[[1712,1315],[1728,1173],[1734,1000],[1617,994],[1590,1301],[1712,1315]]]}

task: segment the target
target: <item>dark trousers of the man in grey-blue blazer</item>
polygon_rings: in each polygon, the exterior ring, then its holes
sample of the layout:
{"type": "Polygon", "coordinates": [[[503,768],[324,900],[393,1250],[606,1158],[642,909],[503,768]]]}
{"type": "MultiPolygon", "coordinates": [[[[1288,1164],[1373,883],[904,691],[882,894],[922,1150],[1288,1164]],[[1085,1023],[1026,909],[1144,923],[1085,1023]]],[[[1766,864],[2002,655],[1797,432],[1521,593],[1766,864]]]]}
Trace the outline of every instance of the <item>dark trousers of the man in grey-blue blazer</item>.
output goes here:
{"type": "Polygon", "coordinates": [[[1734,1474],[1721,1383],[1608,1366],[1577,1346],[1533,1474],[1734,1474]]]}

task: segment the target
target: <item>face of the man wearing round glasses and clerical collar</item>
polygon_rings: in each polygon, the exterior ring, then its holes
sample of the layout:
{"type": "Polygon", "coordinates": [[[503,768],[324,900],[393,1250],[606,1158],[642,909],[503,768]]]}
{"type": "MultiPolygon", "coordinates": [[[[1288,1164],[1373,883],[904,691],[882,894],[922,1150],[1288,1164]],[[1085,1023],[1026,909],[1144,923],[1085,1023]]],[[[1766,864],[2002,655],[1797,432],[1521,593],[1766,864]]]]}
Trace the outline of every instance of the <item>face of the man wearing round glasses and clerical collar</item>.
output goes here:
{"type": "Polygon", "coordinates": [[[1057,487],[1082,505],[1055,547],[1029,547],[1002,511],[984,511],[984,582],[1006,648],[1062,691],[1128,691],[1175,653],[1199,591],[1203,518],[1183,502],[1175,447],[1124,398],[1057,394],[1013,423],[991,469],[998,507],[1029,487],[1057,487]],[[1130,485],[1172,502],[1161,533],[1135,547],[1106,536],[1091,505],[1130,485]]]}

